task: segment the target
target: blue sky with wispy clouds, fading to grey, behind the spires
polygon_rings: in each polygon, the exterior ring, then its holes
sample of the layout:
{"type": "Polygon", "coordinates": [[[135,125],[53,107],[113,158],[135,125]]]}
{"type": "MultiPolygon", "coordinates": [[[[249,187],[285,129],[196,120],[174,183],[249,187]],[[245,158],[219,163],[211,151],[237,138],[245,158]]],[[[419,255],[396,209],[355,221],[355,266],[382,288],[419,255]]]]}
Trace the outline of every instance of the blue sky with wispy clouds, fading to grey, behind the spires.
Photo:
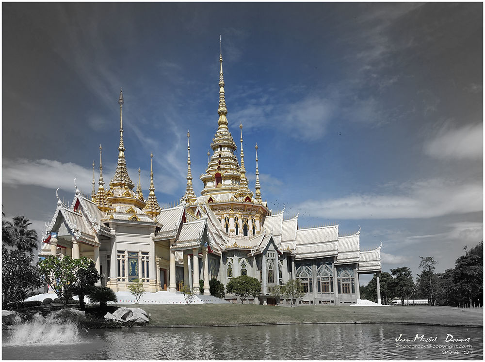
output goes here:
{"type": "MultiPolygon", "coordinates": [[[[452,268],[483,239],[482,3],[3,3],[2,205],[39,234],[124,141],[161,205],[194,190],[227,118],[254,188],[300,227],[361,227],[383,271],[452,268]],[[250,172],[251,171],[251,172],[250,172]]],[[[96,181],[98,172],[96,172],[96,181]]],[[[97,184],[96,184],[97,188],[97,184]]],[[[365,282],[367,279],[362,278],[365,282]]]]}

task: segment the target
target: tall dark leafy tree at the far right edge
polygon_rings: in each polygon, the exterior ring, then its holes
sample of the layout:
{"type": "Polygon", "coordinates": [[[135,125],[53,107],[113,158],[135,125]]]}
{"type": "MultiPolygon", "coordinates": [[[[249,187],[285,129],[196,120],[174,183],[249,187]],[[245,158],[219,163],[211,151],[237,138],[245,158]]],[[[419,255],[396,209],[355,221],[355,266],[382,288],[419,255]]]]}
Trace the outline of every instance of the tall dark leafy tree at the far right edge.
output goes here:
{"type": "Polygon", "coordinates": [[[458,303],[483,303],[483,241],[456,259],[453,283],[461,296],[458,303]]]}

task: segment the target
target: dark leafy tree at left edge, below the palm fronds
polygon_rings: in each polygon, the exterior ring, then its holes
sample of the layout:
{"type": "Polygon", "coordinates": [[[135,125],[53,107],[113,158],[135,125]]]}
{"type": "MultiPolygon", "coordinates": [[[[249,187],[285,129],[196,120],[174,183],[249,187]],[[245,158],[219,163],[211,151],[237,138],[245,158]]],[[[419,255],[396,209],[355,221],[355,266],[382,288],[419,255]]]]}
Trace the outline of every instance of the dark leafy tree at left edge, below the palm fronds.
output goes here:
{"type": "Polygon", "coordinates": [[[23,303],[30,292],[40,287],[39,269],[32,265],[32,255],[5,247],[1,250],[2,305],[23,303]]]}

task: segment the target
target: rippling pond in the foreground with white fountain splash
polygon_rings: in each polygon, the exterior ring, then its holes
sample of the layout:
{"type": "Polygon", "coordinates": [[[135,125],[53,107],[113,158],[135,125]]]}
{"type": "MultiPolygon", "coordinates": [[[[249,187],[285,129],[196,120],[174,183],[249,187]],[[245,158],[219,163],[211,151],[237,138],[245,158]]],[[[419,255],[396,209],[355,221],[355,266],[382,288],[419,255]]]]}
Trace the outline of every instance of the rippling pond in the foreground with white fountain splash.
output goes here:
{"type": "Polygon", "coordinates": [[[312,324],[83,330],[74,325],[32,323],[3,331],[2,359],[482,360],[483,329],[312,324]],[[414,340],[416,334],[436,342],[396,342],[400,335],[414,340]],[[447,335],[470,341],[445,342],[447,335]]]}

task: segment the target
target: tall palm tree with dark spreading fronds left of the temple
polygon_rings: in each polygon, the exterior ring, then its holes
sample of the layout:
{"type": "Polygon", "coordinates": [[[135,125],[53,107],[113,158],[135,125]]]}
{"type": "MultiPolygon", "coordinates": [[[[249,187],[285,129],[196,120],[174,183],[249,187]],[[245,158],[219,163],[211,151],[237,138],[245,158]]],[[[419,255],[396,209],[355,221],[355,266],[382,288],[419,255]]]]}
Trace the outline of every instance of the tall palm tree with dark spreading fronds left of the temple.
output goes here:
{"type": "Polygon", "coordinates": [[[39,249],[39,242],[37,232],[29,229],[32,223],[25,216],[15,216],[12,220],[13,222],[6,221],[5,227],[2,223],[2,235],[4,230],[9,232],[7,237],[2,236],[2,242],[21,252],[33,255],[34,250],[39,249]]]}

